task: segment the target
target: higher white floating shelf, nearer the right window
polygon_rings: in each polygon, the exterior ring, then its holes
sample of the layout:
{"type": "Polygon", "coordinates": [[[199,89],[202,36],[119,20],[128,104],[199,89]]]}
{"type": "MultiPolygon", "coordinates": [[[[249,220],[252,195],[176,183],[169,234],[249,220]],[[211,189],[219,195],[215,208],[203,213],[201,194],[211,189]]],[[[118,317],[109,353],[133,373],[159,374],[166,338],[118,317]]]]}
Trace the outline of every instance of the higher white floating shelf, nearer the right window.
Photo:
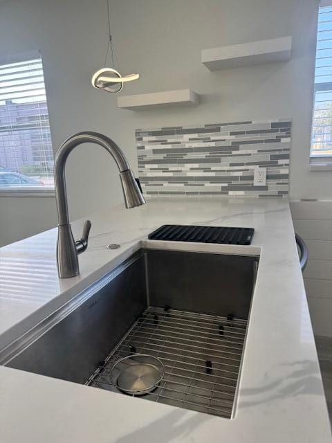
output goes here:
{"type": "Polygon", "coordinates": [[[210,71],[291,60],[292,37],[203,49],[201,60],[210,71]]]}

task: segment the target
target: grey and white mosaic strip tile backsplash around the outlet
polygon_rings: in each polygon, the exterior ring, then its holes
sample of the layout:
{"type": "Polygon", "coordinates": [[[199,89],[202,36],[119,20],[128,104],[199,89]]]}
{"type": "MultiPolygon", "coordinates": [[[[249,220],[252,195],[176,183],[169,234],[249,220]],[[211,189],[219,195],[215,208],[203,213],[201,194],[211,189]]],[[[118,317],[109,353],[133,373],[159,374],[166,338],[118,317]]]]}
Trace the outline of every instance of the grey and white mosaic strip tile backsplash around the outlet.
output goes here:
{"type": "Polygon", "coordinates": [[[137,129],[136,143],[147,197],[288,195],[289,119],[137,129]],[[266,186],[254,186],[259,167],[266,186]]]}

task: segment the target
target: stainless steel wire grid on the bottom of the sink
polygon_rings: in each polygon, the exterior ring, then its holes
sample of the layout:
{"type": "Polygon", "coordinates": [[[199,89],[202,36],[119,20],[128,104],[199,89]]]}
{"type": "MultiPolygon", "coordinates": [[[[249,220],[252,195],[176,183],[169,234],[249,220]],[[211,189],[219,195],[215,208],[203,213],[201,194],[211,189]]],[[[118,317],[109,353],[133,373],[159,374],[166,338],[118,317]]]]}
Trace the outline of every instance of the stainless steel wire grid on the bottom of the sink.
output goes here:
{"type": "Polygon", "coordinates": [[[135,352],[158,357],[165,376],[145,399],[230,418],[246,320],[149,307],[86,382],[118,391],[111,368],[135,352]]]}

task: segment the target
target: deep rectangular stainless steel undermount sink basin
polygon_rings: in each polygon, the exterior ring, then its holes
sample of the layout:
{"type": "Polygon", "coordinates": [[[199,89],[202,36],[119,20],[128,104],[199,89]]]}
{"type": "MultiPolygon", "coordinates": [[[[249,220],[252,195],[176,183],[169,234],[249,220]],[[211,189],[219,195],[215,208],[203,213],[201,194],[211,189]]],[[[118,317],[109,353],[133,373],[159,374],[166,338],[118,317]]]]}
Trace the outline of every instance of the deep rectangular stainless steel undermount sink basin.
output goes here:
{"type": "Polygon", "coordinates": [[[116,363],[144,354],[163,373],[140,398],[230,418],[258,262],[140,249],[13,343],[2,363],[121,392],[116,363]]]}

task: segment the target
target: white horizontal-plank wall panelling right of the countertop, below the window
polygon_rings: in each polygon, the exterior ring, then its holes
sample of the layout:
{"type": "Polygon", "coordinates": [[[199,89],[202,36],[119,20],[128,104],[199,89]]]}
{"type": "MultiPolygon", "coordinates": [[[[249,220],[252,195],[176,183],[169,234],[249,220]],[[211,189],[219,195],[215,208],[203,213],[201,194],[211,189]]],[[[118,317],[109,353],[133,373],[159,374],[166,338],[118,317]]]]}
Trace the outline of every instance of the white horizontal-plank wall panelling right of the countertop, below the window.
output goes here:
{"type": "Polygon", "coordinates": [[[313,329],[332,337],[332,201],[291,201],[291,211],[309,251],[304,284],[313,329]]]}

